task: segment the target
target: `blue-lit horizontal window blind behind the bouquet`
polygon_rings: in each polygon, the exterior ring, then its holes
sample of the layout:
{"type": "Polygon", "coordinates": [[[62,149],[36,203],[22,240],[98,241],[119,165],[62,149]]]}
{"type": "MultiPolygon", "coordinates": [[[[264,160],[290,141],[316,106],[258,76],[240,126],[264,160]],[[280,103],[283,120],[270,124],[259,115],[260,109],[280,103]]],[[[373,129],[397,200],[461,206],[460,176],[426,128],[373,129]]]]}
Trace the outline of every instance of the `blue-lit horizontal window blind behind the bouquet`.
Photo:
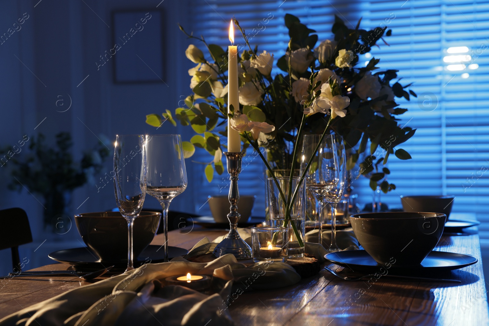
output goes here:
{"type": "MultiPolygon", "coordinates": [[[[389,157],[389,182],[397,189],[382,194],[382,202],[400,208],[400,195],[456,196],[452,212],[477,218],[482,222],[481,238],[489,239],[489,0],[196,0],[192,10],[192,30],[208,43],[227,46],[227,28],[235,16],[252,33],[250,43],[258,44],[259,51],[272,52],[275,60],[289,41],[286,13],[315,29],[319,41],[333,37],[335,14],[352,27],[363,17],[364,29],[381,24],[392,29],[392,36],[384,38],[389,45],[378,42],[380,48],[374,47],[359,61],[359,65],[367,62],[371,55],[380,59],[381,69],[399,69],[401,83],[414,83],[412,89],[418,93],[410,102],[396,99],[401,108],[408,109],[399,123],[417,131],[399,145],[411,154],[411,160],[389,157]],[[270,15],[273,18],[264,25],[263,19],[270,15]]],[[[206,152],[195,155],[196,160],[209,160],[206,152]]],[[[193,167],[203,171],[203,166],[193,167]]],[[[240,175],[239,183],[240,193],[257,195],[255,216],[263,215],[265,207],[260,178],[263,163],[257,157],[240,175]]],[[[221,177],[210,184],[202,177],[196,210],[207,195],[223,190],[219,182],[221,177]]],[[[360,177],[354,186],[362,207],[371,202],[366,178],[360,177]]],[[[206,209],[200,208],[199,214],[207,214],[206,209]]]]}

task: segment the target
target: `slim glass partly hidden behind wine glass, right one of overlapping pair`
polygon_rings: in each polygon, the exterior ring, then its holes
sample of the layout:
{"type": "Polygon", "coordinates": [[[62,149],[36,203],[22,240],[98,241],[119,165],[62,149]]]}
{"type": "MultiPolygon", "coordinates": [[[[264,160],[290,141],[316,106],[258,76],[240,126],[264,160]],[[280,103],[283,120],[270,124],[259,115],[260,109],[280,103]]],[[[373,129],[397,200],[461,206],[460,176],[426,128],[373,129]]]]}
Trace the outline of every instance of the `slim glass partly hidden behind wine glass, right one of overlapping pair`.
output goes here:
{"type": "Polygon", "coordinates": [[[330,252],[340,250],[340,248],[338,248],[338,245],[336,244],[336,205],[338,205],[341,196],[343,196],[343,189],[345,188],[346,181],[345,143],[340,135],[333,135],[333,140],[336,149],[336,157],[338,160],[338,182],[325,195],[325,198],[330,204],[331,211],[331,246],[329,248],[330,252]]]}

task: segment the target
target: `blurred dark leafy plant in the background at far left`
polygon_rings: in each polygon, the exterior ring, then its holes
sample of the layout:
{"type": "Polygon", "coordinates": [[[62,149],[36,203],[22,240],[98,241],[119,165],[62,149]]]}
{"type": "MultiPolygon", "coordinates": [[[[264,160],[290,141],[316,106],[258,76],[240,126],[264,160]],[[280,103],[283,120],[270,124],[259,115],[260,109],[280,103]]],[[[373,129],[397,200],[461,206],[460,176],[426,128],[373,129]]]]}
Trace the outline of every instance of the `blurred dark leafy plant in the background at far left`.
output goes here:
{"type": "MultiPolygon", "coordinates": [[[[42,133],[32,136],[28,152],[13,155],[5,164],[10,167],[12,176],[8,188],[20,192],[25,187],[31,193],[43,196],[44,228],[50,225],[54,230],[55,223],[51,223],[54,217],[70,216],[66,210],[73,190],[87,182],[94,183],[94,174],[100,172],[111,152],[106,144],[109,144],[108,140],[99,141],[91,151],[84,152],[78,163],[71,154],[73,142],[68,132],[56,134],[55,148],[45,144],[42,133]]],[[[0,151],[1,155],[8,152],[9,148],[0,151]]]]}

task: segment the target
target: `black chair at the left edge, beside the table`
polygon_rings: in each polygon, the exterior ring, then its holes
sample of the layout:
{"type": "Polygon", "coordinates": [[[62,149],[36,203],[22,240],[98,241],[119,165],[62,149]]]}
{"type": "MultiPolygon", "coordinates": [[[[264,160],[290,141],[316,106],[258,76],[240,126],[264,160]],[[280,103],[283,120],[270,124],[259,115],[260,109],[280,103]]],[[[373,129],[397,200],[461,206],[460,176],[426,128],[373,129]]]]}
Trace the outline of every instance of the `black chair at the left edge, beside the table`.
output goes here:
{"type": "Polygon", "coordinates": [[[22,208],[9,208],[0,211],[0,223],[0,250],[11,248],[13,271],[20,273],[19,246],[32,242],[29,219],[22,208]]]}

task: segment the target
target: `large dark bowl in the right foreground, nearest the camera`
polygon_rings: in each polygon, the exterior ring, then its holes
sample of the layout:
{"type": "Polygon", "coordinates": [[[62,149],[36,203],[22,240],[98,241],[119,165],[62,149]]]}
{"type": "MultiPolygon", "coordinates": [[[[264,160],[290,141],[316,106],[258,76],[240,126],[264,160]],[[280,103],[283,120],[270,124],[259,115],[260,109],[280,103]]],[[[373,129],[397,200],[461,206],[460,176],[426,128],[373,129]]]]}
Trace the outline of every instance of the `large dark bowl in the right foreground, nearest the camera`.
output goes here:
{"type": "Polygon", "coordinates": [[[385,212],[352,215],[356,239],[379,264],[419,265],[445,227],[440,213],[385,212]]]}

